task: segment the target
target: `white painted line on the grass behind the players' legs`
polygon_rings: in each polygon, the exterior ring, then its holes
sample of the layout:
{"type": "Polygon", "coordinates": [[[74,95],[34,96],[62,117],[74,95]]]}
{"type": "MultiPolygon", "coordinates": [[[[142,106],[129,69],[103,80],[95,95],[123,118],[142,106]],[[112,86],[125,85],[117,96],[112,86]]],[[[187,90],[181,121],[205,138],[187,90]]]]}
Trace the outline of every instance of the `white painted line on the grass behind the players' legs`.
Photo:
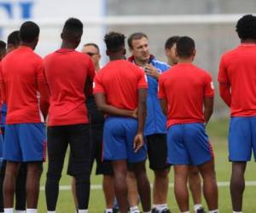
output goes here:
{"type": "MultiPolygon", "coordinates": [[[[246,186],[249,187],[256,187],[256,181],[246,181],[246,186]]],[[[151,185],[152,187],[152,185],[151,185]]],[[[169,183],[169,187],[173,187],[173,183],[169,183]]],[[[230,182],[229,181],[219,181],[218,182],[218,187],[230,187],[230,182]]],[[[90,185],[91,190],[101,190],[102,185],[90,185]]],[[[41,191],[44,191],[44,187],[40,187],[41,191]]],[[[70,185],[62,185],[60,186],[61,191],[69,191],[71,190],[70,185]]]]}

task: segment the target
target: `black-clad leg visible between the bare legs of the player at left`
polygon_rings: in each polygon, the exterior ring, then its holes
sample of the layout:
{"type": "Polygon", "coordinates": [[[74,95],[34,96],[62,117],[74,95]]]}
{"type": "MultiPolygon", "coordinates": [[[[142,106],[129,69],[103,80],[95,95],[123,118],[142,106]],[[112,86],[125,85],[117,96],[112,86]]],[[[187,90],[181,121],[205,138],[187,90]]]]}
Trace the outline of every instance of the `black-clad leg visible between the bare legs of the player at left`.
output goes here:
{"type": "Polygon", "coordinates": [[[26,211],[26,173],[27,165],[21,163],[15,190],[15,210],[19,213],[26,211]]]}

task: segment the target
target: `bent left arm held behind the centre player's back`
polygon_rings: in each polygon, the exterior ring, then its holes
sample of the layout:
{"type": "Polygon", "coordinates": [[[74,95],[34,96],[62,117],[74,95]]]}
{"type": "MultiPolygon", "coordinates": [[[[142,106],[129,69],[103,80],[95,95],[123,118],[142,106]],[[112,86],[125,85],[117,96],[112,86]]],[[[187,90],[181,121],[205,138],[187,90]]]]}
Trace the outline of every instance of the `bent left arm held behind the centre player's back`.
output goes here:
{"type": "Polygon", "coordinates": [[[125,109],[119,109],[117,107],[108,105],[106,102],[105,94],[103,94],[103,93],[96,93],[94,96],[95,96],[95,101],[96,101],[98,110],[108,113],[110,115],[137,118],[137,109],[136,110],[125,110],[125,109]]]}

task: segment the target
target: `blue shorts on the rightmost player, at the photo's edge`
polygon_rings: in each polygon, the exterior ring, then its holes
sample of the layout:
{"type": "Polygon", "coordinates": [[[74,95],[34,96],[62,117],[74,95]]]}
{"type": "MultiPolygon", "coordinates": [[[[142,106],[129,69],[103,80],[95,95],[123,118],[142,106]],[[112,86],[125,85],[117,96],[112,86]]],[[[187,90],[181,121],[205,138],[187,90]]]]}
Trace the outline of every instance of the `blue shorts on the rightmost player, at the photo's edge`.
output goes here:
{"type": "Polygon", "coordinates": [[[256,117],[232,117],[230,119],[230,161],[256,160],[256,117]]]}

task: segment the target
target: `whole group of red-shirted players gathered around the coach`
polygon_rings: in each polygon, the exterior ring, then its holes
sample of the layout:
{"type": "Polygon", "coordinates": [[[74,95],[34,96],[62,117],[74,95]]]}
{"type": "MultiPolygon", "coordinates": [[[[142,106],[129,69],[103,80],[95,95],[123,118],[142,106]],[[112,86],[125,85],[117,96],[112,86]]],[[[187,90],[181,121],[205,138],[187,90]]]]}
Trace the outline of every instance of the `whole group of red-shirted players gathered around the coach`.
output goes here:
{"type": "MultiPolygon", "coordinates": [[[[104,41],[110,61],[100,69],[95,43],[85,44],[82,53],[75,50],[83,34],[80,20],[70,18],[65,22],[61,48],[44,59],[33,52],[39,32],[34,22],[23,23],[15,32],[17,39],[9,39],[8,54],[0,64],[1,102],[7,105],[1,141],[6,162],[1,171],[2,212],[38,212],[47,147],[45,197],[48,212],[54,213],[69,146],[67,173],[73,176],[79,213],[88,212],[94,158],[96,173],[103,175],[107,213],[113,212],[115,197],[119,212],[139,212],[137,194],[143,212],[171,212],[167,207],[171,165],[180,212],[189,212],[188,181],[194,212],[206,212],[201,205],[202,178],[209,213],[218,213],[214,156],[205,130],[213,112],[214,88],[211,75],[193,64],[194,40],[169,38],[167,65],[149,54],[144,33],[133,33],[128,38],[132,56],[126,60],[125,35],[109,32],[104,41]],[[14,40],[19,42],[12,43],[14,40]],[[154,171],[153,206],[147,157],[154,171]],[[26,178],[20,188],[16,180],[24,164],[26,178]],[[23,200],[21,209],[17,208],[17,198],[23,200]]],[[[218,82],[220,95],[231,110],[230,193],[233,213],[240,213],[246,164],[252,149],[256,154],[256,17],[241,17],[236,32],[241,45],[222,56],[218,82]]]]}

